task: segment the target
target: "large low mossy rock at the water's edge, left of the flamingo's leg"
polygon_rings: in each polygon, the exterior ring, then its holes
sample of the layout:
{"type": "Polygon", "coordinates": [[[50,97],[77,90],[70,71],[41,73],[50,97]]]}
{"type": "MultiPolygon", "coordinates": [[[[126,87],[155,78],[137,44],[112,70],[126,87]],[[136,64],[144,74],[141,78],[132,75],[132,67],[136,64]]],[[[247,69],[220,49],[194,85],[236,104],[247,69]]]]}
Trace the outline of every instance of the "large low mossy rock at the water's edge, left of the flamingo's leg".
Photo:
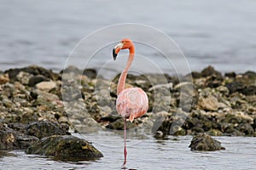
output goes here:
{"type": "Polygon", "coordinates": [[[26,150],[26,154],[56,156],[66,160],[85,161],[102,157],[102,153],[84,139],[71,135],[54,135],[41,139],[26,150]]]}

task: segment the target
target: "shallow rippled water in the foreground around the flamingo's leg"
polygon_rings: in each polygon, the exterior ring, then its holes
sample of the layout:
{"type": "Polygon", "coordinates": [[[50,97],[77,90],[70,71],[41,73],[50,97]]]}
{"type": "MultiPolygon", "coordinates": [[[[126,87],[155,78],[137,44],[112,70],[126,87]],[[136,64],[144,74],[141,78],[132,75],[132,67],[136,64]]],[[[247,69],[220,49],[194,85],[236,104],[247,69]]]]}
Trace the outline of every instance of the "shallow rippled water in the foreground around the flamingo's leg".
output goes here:
{"type": "MultiPolygon", "coordinates": [[[[79,135],[79,134],[77,134],[79,135]]],[[[0,157],[1,169],[120,169],[123,139],[118,133],[100,132],[79,135],[93,141],[104,157],[95,161],[54,161],[44,156],[9,151],[0,157]]],[[[256,143],[249,137],[214,137],[226,150],[189,150],[191,136],[169,139],[128,139],[127,167],[134,169],[255,169],[256,143]]]]}

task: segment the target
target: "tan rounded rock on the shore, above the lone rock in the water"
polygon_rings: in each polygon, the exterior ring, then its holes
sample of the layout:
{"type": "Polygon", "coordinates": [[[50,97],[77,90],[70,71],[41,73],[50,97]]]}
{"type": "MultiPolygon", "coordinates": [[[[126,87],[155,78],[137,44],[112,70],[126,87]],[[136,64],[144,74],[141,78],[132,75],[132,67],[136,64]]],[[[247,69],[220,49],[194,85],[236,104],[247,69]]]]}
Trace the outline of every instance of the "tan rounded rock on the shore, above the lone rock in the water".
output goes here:
{"type": "Polygon", "coordinates": [[[198,99],[197,105],[202,110],[206,111],[218,111],[218,99],[213,95],[209,95],[207,97],[200,96],[198,99]]]}

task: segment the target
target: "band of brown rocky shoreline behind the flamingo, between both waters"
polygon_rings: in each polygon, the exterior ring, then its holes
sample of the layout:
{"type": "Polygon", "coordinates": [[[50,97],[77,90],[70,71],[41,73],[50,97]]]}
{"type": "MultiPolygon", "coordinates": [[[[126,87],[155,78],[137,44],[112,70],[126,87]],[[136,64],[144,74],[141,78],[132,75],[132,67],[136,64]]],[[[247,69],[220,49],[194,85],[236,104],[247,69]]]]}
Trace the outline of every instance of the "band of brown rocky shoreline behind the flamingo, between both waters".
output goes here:
{"type": "MultiPolygon", "coordinates": [[[[199,133],[256,137],[255,72],[222,75],[208,66],[182,78],[165,75],[166,83],[154,85],[148,77],[158,82],[159,75],[127,78],[127,87],[143,88],[149,99],[148,113],[128,125],[136,132],[155,138],[199,133]]],[[[123,129],[114,106],[117,81],[73,66],[60,73],[37,65],[0,71],[0,149],[26,149],[52,135],[70,135],[70,130],[123,129]]]]}

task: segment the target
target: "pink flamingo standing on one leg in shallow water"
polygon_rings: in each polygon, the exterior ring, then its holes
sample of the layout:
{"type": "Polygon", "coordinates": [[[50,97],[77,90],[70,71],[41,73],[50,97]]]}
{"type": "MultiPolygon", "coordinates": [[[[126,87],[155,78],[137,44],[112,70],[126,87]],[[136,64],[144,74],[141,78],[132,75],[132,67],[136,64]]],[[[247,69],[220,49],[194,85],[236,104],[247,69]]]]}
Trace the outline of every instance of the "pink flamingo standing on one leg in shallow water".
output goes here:
{"type": "Polygon", "coordinates": [[[129,49],[129,59],[125,65],[124,71],[122,71],[119,82],[117,86],[117,100],[116,100],[116,110],[119,115],[123,116],[125,125],[124,125],[124,157],[125,161],[122,166],[122,169],[126,169],[126,119],[129,119],[130,122],[137,117],[143,116],[148,111],[148,95],[143,91],[142,88],[125,88],[125,80],[127,73],[131,66],[132,60],[135,54],[135,47],[133,42],[130,39],[123,39],[113,48],[113,60],[116,59],[117,54],[121,49],[129,49]]]}

